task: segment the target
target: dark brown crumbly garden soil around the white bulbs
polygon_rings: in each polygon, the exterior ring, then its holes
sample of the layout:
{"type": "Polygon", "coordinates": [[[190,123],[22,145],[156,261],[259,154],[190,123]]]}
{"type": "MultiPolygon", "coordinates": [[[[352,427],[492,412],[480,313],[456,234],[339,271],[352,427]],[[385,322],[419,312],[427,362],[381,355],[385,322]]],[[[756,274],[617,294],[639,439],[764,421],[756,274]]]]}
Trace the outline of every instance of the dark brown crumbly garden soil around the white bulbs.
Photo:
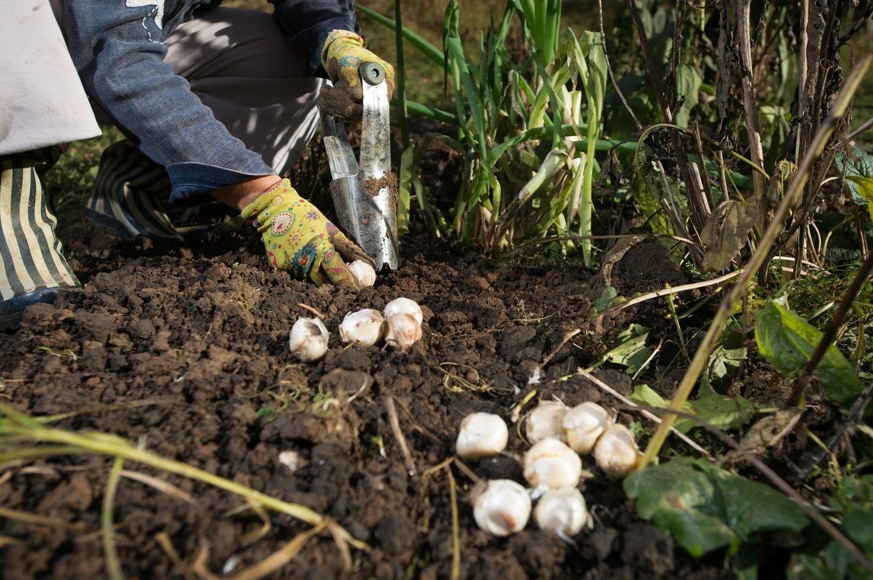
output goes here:
{"type": "MultiPolygon", "coordinates": [[[[567,404],[614,400],[576,368],[595,363],[610,331],[629,321],[667,335],[666,307],[606,320],[601,335],[588,322],[601,281],[581,269],[555,271],[524,261],[497,263],[423,237],[407,239],[402,268],[375,288],[316,288],[267,270],[248,232],[214,233],[169,248],[113,242],[89,229],[67,234],[74,268],[86,283],[38,305],[22,329],[0,336],[0,396],[35,415],[86,411],[60,420],[71,430],[117,433],[157,454],[184,461],[288,502],[328,515],[372,546],[354,550],[344,573],[329,535],[306,544],[273,577],[448,577],[452,560],[449,483],[423,471],[452,454],[457,426],[473,411],[508,419],[531,389],[567,404]],[[409,352],[345,349],[337,324],[349,310],[381,309],[395,297],[418,301],[424,338],[409,352]],[[299,304],[327,316],[332,348],[313,365],[288,351],[299,304]],[[567,331],[581,329],[558,347],[567,331]],[[540,383],[529,384],[540,363],[540,383]],[[388,422],[384,399],[398,403],[402,432],[416,465],[410,476],[388,422]],[[134,403],[146,402],[134,406],[134,403]],[[112,406],[110,410],[100,407],[112,406]],[[299,455],[296,471],[279,462],[299,455]]],[[[632,249],[613,270],[623,295],[685,281],[655,242],[632,249]]],[[[630,391],[629,376],[602,367],[598,376],[630,391]]],[[[675,380],[661,379],[662,392],[675,380]]],[[[677,377],[676,377],[677,378],[677,377]]],[[[625,420],[637,419],[630,415],[625,420]]],[[[523,441],[511,428],[511,454],[523,441]]],[[[0,506],[71,522],[74,529],[0,519],[0,577],[96,578],[105,575],[100,504],[111,460],[73,456],[6,471],[0,506]]],[[[528,529],[506,539],[478,530],[464,497],[471,481],[456,471],[462,577],[468,578],[715,578],[731,576],[723,555],[703,561],[640,520],[622,493],[584,459],[592,478],[584,495],[596,523],[568,545],[528,529]]],[[[507,454],[470,462],[480,477],[511,477],[521,469],[507,454]]],[[[122,478],[115,502],[116,542],[127,577],[182,577],[156,536],[165,533],[182,561],[198,556],[220,575],[243,570],[306,529],[285,515],[271,528],[251,511],[227,515],[237,496],[127,462],[192,495],[198,510],[140,481],[122,478]],[[245,542],[249,535],[249,542],[245,542]],[[254,537],[254,541],[251,541],[254,537]]]]}

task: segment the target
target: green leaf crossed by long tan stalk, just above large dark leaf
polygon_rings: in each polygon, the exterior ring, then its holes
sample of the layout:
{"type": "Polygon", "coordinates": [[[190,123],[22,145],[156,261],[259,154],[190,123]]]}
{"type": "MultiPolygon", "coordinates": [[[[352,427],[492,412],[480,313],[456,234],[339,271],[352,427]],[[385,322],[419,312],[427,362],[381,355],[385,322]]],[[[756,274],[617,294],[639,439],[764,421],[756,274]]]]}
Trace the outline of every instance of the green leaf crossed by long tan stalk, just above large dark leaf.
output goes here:
{"type": "MultiPolygon", "coordinates": [[[[663,399],[661,395],[646,385],[637,385],[629,399],[640,405],[654,406],[662,409],[670,406],[669,400],[663,399]]],[[[698,399],[685,401],[685,404],[682,406],[684,413],[694,415],[722,430],[745,425],[752,419],[757,410],[758,406],[748,399],[743,399],[742,397],[722,397],[717,392],[706,392],[698,399]]],[[[698,424],[693,420],[682,417],[678,418],[674,425],[682,433],[686,433],[695,426],[698,426],[698,424]]]]}

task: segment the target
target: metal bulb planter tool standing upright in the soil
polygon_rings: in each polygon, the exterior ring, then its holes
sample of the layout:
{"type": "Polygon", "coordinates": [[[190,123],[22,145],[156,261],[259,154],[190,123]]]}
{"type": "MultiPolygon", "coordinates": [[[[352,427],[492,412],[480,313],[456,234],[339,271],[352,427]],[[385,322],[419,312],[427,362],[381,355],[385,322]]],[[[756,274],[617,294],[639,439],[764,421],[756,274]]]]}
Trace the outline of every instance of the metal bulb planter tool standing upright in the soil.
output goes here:
{"type": "Polygon", "coordinates": [[[397,193],[380,183],[391,173],[388,85],[380,65],[364,63],[358,73],[364,95],[360,161],[354,158],[345,123],[319,107],[333,177],[331,196],[340,228],[373,258],[376,271],[386,265],[396,270],[397,193]]]}

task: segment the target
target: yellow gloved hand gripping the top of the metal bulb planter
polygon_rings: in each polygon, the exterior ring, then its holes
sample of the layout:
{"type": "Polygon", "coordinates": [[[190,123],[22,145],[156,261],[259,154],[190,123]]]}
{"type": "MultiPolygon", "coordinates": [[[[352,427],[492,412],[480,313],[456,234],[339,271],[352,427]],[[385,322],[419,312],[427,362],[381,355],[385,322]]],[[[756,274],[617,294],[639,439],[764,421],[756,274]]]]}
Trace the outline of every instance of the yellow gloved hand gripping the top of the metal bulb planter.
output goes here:
{"type": "Polygon", "coordinates": [[[331,31],[321,49],[321,64],[333,87],[321,89],[321,103],[327,113],[346,122],[361,120],[364,97],[358,67],[376,63],[385,71],[388,99],[394,93],[394,67],[364,48],[364,39],[350,31],[331,31]]]}

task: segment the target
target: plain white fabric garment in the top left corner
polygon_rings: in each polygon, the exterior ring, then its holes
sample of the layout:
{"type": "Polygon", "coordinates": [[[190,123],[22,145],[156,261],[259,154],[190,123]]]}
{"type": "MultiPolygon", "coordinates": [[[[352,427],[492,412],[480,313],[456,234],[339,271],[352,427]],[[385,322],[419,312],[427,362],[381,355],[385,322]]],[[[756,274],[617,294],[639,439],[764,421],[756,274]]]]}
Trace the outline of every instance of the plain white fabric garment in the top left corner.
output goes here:
{"type": "Polygon", "coordinates": [[[48,0],[0,0],[0,155],[100,135],[48,0]]]}

